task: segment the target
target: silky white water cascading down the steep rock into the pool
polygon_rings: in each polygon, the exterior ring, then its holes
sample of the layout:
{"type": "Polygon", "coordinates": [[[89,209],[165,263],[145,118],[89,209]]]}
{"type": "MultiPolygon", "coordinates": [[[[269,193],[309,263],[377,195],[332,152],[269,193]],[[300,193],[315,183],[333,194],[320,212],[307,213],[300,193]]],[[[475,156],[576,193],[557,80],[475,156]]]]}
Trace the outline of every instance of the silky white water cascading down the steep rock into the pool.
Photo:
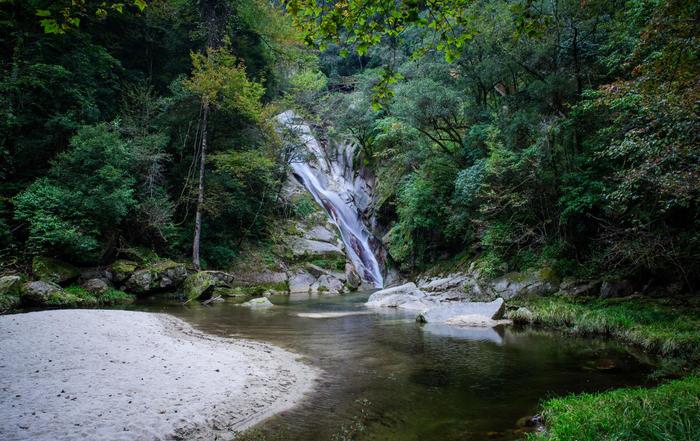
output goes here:
{"type": "Polygon", "coordinates": [[[291,110],[281,113],[277,120],[299,137],[307,150],[305,160],[293,161],[294,174],[321,205],[340,231],[350,257],[360,277],[377,288],[384,286],[379,261],[370,247],[371,234],[362,222],[356,205],[358,197],[353,180],[352,149],[338,145],[337,155],[328,158],[311,133],[311,128],[291,110]],[[312,164],[312,161],[315,164],[312,164]]]}

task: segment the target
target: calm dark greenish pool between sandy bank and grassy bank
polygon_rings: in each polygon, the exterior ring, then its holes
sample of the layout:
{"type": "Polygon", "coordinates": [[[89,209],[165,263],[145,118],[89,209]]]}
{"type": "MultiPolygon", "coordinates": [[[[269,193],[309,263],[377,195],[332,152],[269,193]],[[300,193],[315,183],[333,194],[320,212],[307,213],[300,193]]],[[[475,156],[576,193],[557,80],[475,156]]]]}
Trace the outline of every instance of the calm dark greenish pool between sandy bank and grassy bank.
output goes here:
{"type": "Polygon", "coordinates": [[[331,440],[358,420],[359,440],[512,440],[522,435],[518,420],[541,399],[638,385],[648,373],[613,342],[421,325],[395,311],[296,316],[366,312],[368,295],[273,297],[276,306],[267,310],[231,303],[137,308],[167,312],[204,332],[273,343],[322,368],[308,399],[261,427],[287,440],[331,440]]]}

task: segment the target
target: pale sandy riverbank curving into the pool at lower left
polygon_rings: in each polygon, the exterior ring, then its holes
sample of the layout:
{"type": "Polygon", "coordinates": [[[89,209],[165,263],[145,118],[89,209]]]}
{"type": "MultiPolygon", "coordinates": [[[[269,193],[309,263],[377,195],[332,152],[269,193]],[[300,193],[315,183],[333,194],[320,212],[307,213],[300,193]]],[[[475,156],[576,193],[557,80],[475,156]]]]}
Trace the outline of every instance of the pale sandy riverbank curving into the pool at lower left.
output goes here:
{"type": "Polygon", "coordinates": [[[318,372],[275,346],[163,314],[0,317],[0,438],[218,439],[286,410],[318,372]]]}

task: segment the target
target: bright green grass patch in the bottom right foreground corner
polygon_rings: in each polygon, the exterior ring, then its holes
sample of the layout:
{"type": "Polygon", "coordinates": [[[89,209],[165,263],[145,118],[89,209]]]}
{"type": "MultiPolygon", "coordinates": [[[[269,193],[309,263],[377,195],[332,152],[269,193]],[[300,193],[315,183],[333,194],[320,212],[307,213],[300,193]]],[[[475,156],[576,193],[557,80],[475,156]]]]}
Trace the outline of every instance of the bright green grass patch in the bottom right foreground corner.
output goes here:
{"type": "Polygon", "coordinates": [[[544,402],[544,433],[529,441],[700,440],[700,378],[544,402]]]}

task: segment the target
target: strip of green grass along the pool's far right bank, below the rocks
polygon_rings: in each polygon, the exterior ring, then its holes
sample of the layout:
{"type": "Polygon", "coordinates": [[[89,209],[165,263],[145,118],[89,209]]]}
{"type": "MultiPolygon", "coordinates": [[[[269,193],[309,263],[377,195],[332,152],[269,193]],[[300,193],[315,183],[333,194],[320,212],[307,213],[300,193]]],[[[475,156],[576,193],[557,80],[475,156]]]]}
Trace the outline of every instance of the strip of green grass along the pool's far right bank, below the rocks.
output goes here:
{"type": "Polygon", "coordinates": [[[689,300],[539,297],[508,316],[579,335],[609,336],[665,357],[700,361],[700,308],[689,300]]]}

